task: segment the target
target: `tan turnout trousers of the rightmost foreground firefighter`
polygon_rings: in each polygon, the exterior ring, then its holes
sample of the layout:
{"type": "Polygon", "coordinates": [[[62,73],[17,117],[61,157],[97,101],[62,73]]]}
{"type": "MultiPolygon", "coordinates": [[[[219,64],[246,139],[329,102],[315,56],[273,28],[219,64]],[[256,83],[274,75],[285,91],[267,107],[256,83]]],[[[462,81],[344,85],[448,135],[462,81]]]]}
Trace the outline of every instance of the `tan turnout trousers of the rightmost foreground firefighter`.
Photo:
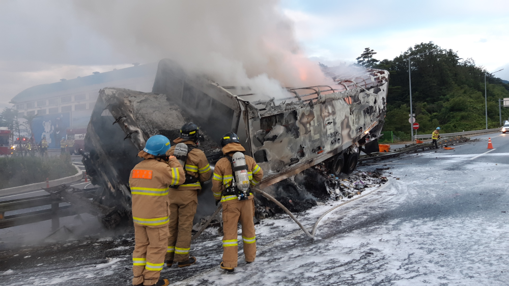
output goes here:
{"type": "Polygon", "coordinates": [[[240,220],[242,226],[242,242],[244,243],[244,256],[247,262],[256,258],[256,236],[254,235],[254,200],[237,201],[223,204],[223,265],[237,267],[238,236],[237,225],[240,220]]]}

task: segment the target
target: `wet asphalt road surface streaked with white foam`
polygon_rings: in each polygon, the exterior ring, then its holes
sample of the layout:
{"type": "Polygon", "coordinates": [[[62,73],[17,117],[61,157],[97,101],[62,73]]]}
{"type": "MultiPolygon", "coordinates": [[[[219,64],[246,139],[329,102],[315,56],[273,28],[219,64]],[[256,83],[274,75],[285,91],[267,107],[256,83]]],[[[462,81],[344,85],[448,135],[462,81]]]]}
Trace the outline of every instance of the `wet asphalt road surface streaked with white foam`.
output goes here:
{"type": "MultiPolygon", "coordinates": [[[[264,219],[257,259],[245,264],[239,245],[239,267],[226,273],[209,228],[191,245],[198,262],[162,276],[177,285],[506,285],[509,134],[480,137],[359,167],[389,168],[389,184],[328,214],[315,239],[286,215],[264,219]]],[[[297,216],[310,229],[338,203],[297,216]]],[[[129,285],[133,244],[125,229],[6,249],[0,285],[129,285]]]]}

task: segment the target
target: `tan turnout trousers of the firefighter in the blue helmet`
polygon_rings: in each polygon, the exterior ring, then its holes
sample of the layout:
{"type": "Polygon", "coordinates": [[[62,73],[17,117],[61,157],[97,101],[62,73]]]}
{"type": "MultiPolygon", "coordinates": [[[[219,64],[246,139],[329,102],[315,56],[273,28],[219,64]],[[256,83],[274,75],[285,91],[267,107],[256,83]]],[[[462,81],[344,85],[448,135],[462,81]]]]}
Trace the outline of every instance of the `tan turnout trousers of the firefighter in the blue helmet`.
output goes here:
{"type": "Polygon", "coordinates": [[[168,229],[150,228],[134,224],[134,251],[132,252],[132,284],[154,285],[164,265],[168,229]]]}

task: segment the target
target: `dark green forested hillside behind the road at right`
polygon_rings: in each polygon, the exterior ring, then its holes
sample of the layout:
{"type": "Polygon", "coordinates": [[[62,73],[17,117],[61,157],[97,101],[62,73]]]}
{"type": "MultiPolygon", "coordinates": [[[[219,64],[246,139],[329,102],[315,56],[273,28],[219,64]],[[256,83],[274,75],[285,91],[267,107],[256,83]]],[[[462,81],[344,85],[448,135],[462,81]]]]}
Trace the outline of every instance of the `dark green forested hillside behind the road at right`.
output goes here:
{"type": "MultiPolygon", "coordinates": [[[[410,138],[410,96],[408,60],[412,57],[412,102],[418,134],[431,133],[437,126],[443,133],[486,128],[485,84],[488,93],[488,128],[499,123],[498,99],[509,98],[509,84],[489,74],[484,67],[476,66],[473,59],[459,58],[453,50],[446,50],[432,42],[409,48],[394,59],[375,59],[376,52],[366,48],[357,58],[358,65],[390,72],[387,96],[387,117],[384,131],[393,131],[404,140],[410,138]]],[[[502,107],[502,123],[509,117],[509,107],[502,107]]]]}

